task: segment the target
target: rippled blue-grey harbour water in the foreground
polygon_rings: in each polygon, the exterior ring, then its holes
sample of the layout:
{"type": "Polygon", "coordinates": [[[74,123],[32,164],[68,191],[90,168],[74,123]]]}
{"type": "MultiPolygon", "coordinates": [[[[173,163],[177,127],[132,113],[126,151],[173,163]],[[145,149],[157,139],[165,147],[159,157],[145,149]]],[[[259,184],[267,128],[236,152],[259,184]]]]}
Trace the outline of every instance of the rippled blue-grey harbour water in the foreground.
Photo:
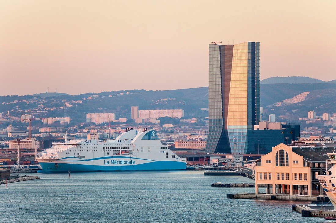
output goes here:
{"type": "MultiPolygon", "coordinates": [[[[41,179],[0,185],[0,222],[328,222],[291,211],[302,201],[227,199],[254,188],[242,176],[203,171],[36,174],[41,179]]],[[[333,222],[333,221],[329,221],[333,222]]],[[[334,221],[335,222],[335,221],[334,221]]]]}

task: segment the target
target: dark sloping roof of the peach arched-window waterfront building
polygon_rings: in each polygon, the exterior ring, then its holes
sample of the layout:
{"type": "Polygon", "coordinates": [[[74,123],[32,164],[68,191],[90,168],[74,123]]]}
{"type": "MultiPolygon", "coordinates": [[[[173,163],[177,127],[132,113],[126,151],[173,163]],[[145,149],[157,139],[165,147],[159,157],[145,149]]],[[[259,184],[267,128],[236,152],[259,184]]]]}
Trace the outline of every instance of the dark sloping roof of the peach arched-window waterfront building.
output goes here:
{"type": "Polygon", "coordinates": [[[326,161],[329,159],[327,153],[333,153],[336,147],[326,146],[291,146],[292,151],[303,156],[307,161],[326,161]]]}

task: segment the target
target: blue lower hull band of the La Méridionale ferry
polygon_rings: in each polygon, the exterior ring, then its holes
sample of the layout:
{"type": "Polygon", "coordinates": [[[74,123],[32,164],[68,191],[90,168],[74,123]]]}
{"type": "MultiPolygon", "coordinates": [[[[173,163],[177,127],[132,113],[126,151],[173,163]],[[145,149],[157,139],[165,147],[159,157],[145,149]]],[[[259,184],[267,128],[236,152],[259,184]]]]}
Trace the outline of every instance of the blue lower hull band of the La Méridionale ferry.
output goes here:
{"type": "Polygon", "coordinates": [[[61,172],[102,172],[102,171],[137,171],[137,170],[185,170],[185,163],[177,161],[155,161],[136,165],[100,166],[73,163],[40,163],[43,170],[39,173],[61,173],[61,172]]]}

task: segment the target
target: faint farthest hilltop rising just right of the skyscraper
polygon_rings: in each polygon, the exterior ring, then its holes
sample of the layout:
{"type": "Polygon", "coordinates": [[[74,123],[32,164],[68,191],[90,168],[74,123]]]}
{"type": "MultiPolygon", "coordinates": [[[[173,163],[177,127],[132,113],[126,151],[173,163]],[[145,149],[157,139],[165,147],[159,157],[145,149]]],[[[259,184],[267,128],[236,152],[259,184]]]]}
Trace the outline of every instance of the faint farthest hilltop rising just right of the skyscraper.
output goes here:
{"type": "Polygon", "coordinates": [[[326,81],[322,81],[319,79],[311,78],[311,77],[302,77],[302,76],[294,76],[294,77],[269,77],[260,81],[260,84],[280,84],[280,83],[288,83],[288,84],[313,84],[313,83],[326,83],[326,81]]]}

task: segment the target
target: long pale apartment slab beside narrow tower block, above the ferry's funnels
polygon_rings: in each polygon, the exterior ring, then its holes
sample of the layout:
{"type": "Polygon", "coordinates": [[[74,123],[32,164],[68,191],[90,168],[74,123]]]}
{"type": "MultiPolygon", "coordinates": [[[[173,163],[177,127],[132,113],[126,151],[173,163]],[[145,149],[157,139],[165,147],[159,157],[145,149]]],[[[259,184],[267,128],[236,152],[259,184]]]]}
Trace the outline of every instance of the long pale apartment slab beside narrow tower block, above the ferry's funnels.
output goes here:
{"type": "Polygon", "coordinates": [[[161,117],[182,118],[183,109],[139,110],[140,119],[158,119],[161,117]]]}

